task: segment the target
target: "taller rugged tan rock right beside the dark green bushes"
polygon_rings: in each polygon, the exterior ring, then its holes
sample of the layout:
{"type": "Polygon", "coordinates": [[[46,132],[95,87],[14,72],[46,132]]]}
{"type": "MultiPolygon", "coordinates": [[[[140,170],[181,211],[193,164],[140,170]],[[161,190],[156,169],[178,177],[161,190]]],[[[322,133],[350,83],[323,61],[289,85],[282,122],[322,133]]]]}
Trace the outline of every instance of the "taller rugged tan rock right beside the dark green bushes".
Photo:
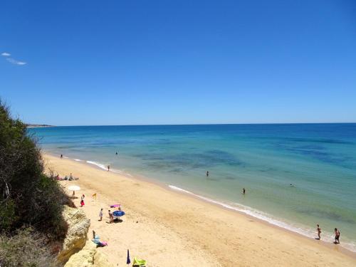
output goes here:
{"type": "Polygon", "coordinates": [[[87,219],[80,209],[70,208],[69,206],[64,207],[63,218],[68,224],[68,232],[58,254],[58,261],[65,263],[70,256],[85,246],[90,219],[87,219]]]}

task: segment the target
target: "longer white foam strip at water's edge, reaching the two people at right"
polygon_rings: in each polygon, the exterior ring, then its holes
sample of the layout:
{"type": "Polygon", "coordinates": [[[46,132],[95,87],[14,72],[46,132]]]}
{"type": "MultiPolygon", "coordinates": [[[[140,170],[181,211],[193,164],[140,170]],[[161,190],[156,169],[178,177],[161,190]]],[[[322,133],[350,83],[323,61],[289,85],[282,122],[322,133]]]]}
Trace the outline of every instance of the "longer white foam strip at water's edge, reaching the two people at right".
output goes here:
{"type": "MultiPolygon", "coordinates": [[[[307,229],[307,228],[302,228],[300,226],[293,226],[292,224],[288,224],[284,221],[280,221],[278,219],[274,219],[271,215],[264,213],[263,211],[258,211],[256,209],[253,209],[249,206],[244,206],[238,203],[231,203],[231,204],[227,204],[221,201],[216,201],[214,199],[210,199],[208,197],[203,197],[199,194],[194,194],[193,192],[190,192],[186,189],[182,189],[180,187],[176,187],[174,185],[169,185],[168,186],[170,189],[173,189],[175,191],[179,191],[179,192],[183,192],[184,194],[190,194],[194,197],[197,197],[199,199],[203,199],[204,201],[208,201],[210,203],[219,205],[219,206],[223,206],[226,209],[231,209],[234,211],[239,211],[242,212],[244,214],[248,214],[249,216],[253,216],[257,219],[260,219],[262,221],[266,221],[269,224],[273,224],[275,226],[281,227],[283,229],[287,229],[289,231],[293,231],[295,233],[298,234],[302,234],[303,236],[307,236],[309,238],[315,238],[315,229],[307,229]]],[[[327,233],[327,232],[323,232],[323,241],[327,241],[327,242],[333,242],[334,238],[333,238],[333,233],[327,233]]],[[[342,243],[340,244],[341,246],[343,246],[344,248],[347,248],[350,251],[356,252],[356,243],[355,242],[349,242],[349,243],[342,243]]]]}

